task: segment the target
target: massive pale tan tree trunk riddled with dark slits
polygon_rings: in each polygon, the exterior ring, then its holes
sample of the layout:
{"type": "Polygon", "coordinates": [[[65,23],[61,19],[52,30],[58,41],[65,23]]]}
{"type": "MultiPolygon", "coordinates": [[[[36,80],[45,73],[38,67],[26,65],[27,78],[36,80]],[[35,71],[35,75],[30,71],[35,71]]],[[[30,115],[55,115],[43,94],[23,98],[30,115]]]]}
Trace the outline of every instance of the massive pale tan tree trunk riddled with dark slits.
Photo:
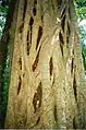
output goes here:
{"type": "Polygon", "coordinates": [[[86,128],[73,0],[20,0],[16,22],[5,128],[86,128]]]}

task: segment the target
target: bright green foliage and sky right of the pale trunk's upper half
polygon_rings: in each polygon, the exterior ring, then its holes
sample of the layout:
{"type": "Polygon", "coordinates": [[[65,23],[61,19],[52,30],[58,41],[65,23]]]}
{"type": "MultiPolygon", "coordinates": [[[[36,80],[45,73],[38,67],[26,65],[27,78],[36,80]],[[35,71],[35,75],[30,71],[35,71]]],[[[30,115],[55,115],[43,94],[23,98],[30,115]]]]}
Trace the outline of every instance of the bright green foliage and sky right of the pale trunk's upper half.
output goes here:
{"type": "MultiPolygon", "coordinates": [[[[77,20],[82,23],[83,20],[86,19],[86,0],[75,0],[75,11],[77,15],[77,20]]],[[[82,56],[83,56],[83,63],[84,70],[86,72],[86,24],[78,24],[79,25],[79,43],[82,46],[82,56]]]]}

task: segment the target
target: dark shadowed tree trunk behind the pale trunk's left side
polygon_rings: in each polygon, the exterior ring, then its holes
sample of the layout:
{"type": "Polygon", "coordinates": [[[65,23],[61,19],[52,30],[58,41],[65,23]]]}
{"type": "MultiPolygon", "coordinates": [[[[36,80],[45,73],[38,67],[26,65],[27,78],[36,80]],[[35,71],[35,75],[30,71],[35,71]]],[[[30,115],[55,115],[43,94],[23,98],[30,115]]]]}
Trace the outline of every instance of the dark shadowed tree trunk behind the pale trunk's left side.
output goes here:
{"type": "MultiPolygon", "coordinates": [[[[4,96],[7,96],[5,95],[7,92],[3,92],[3,91],[8,90],[8,86],[4,88],[4,84],[5,84],[4,83],[4,69],[5,69],[5,62],[7,62],[7,57],[8,57],[8,45],[10,43],[13,43],[13,39],[14,39],[13,38],[14,36],[12,37],[12,34],[11,34],[11,33],[14,34],[14,29],[15,29],[14,28],[15,22],[13,20],[14,8],[15,8],[15,0],[12,0],[12,1],[10,1],[10,8],[9,8],[8,16],[7,16],[7,22],[5,22],[5,26],[3,29],[2,38],[0,40],[0,128],[3,128],[4,118],[5,118],[4,109],[5,109],[7,105],[4,105],[4,103],[7,101],[3,101],[3,98],[4,98],[4,96]],[[11,31],[11,26],[12,26],[12,31],[11,31]]],[[[16,17],[16,16],[14,15],[14,17],[16,17]]],[[[13,44],[12,44],[12,46],[13,46],[13,44]]],[[[11,49],[11,51],[12,51],[12,49],[11,49]]],[[[10,56],[10,58],[11,58],[11,56],[10,56]]]]}

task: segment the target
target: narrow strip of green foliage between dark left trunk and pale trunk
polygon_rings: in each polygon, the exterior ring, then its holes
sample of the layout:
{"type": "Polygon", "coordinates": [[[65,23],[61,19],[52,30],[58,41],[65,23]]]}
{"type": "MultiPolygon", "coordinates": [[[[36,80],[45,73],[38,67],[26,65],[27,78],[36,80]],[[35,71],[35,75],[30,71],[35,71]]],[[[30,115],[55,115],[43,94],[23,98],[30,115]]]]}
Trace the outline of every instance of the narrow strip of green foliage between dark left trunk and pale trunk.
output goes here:
{"type": "MultiPolygon", "coordinates": [[[[9,44],[9,43],[8,43],[9,44]]],[[[7,105],[8,105],[8,94],[9,94],[9,75],[10,75],[10,44],[8,46],[8,55],[7,55],[7,61],[4,62],[4,70],[3,70],[3,80],[4,83],[2,85],[2,92],[1,92],[1,103],[0,103],[0,114],[1,114],[1,122],[0,127],[3,128],[4,120],[5,120],[5,111],[7,111],[7,105]]]]}

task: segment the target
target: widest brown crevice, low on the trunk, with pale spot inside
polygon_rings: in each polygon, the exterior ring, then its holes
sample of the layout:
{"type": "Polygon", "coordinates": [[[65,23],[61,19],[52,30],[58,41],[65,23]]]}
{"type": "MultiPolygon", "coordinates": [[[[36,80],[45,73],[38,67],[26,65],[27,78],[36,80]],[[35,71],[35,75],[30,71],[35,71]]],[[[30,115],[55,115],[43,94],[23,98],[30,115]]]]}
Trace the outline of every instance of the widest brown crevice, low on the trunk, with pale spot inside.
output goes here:
{"type": "Polygon", "coordinates": [[[35,110],[34,113],[36,113],[37,109],[41,106],[41,98],[42,98],[42,87],[40,82],[33,98],[33,106],[35,110]]]}

